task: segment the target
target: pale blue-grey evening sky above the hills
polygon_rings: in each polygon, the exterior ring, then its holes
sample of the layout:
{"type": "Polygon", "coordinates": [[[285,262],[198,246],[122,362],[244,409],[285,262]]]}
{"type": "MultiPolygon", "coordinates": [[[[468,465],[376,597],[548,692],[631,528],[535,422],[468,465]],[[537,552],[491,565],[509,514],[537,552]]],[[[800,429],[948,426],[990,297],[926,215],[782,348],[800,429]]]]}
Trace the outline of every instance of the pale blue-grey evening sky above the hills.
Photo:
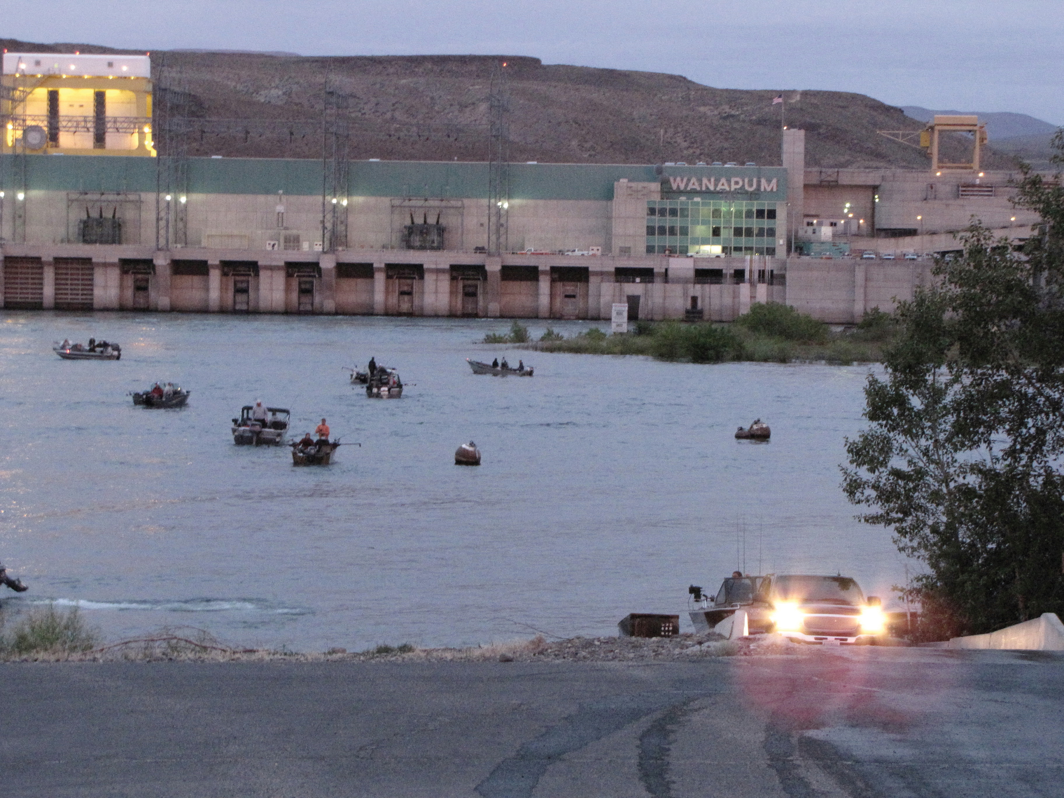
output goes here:
{"type": "Polygon", "coordinates": [[[532,55],[1064,123],[1064,0],[38,0],[3,16],[30,41],[532,55]]]}

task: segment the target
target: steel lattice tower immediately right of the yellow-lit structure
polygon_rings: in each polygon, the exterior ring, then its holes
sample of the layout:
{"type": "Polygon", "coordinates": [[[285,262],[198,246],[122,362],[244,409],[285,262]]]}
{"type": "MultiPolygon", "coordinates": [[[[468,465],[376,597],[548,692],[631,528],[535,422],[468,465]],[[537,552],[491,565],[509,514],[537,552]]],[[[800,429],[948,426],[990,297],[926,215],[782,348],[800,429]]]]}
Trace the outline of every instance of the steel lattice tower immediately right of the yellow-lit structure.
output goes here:
{"type": "Polygon", "coordinates": [[[188,244],[188,87],[163,56],[154,80],[155,249],[188,244]]]}

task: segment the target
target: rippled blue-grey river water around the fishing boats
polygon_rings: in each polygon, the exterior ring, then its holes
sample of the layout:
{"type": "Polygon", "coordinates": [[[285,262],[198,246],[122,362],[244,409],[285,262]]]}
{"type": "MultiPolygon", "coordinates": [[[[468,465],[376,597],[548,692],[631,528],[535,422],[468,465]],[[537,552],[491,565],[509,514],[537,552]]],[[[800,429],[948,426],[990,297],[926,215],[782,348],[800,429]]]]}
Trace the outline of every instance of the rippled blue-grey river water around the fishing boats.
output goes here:
{"type": "MultiPolygon", "coordinates": [[[[866,366],[660,363],[506,351],[535,377],[473,376],[499,320],[0,311],[4,603],[82,608],[109,639],[192,626],[242,645],[350,650],[615,634],[748,572],[854,576],[887,598],[904,561],[853,519],[844,436],[866,366]],[[118,362],[67,362],[93,335],[118,362]],[[343,366],[399,369],[371,400],[343,366]],[[127,392],[170,380],[182,410],[127,392]],[[329,467],[233,445],[262,399],[293,432],[329,419],[329,467]],[[754,417],[769,444],[732,434],[754,417]],[[459,444],[483,451],[453,464],[459,444]],[[361,443],[361,447],[348,445],[361,443]],[[745,566],[744,566],[745,563],[745,566]]],[[[587,322],[554,322],[566,335],[587,322]]],[[[538,336],[542,322],[530,323],[538,336]]]]}

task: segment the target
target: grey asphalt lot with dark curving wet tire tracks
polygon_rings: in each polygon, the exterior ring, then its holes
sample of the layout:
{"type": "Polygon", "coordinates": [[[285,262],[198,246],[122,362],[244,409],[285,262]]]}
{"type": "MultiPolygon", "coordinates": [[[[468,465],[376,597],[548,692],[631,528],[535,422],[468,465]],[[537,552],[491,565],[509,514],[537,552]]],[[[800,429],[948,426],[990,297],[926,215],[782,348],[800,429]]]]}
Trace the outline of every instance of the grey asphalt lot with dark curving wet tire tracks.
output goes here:
{"type": "Polygon", "coordinates": [[[19,663],[7,796],[1060,796],[1064,655],[19,663]]]}

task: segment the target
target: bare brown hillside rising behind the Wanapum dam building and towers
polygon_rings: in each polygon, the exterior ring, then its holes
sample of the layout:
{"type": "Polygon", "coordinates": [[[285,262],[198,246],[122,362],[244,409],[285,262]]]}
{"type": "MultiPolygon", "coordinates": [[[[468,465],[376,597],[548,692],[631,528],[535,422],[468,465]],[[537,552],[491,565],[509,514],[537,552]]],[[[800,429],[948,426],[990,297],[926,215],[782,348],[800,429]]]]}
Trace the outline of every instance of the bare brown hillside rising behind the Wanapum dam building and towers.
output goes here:
{"type": "MultiPolygon", "coordinates": [[[[132,52],[0,40],[10,50],[132,52]]],[[[216,134],[194,128],[190,154],[316,157],[326,81],[350,98],[351,157],[483,161],[487,94],[499,56],[315,57],[152,52],[156,82],[200,118],[289,120],[216,134]],[[261,128],[261,126],[260,126],[261,128]]],[[[703,86],[676,74],[545,65],[506,57],[511,160],[562,163],[780,162],[776,90],[703,86]]],[[[807,131],[810,167],[925,168],[927,156],[877,133],[922,126],[900,109],[842,92],[786,92],[786,121],[807,131]]],[[[988,168],[1015,162],[991,153],[988,168]]]]}

